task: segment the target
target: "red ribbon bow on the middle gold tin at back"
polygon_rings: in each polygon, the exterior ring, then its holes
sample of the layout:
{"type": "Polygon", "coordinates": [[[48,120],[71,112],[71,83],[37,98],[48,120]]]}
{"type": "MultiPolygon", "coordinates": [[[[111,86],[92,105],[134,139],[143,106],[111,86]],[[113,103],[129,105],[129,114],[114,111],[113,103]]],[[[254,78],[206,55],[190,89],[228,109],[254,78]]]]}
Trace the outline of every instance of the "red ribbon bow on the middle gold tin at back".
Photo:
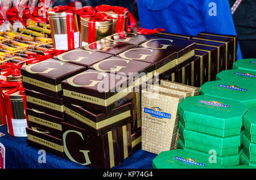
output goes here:
{"type": "Polygon", "coordinates": [[[96,12],[92,6],[84,6],[78,14],[81,18],[90,18],[88,20],[88,44],[96,41],[96,22],[104,22],[106,19],[115,19],[105,14],[104,12],[96,12]],[[86,11],[86,12],[85,12],[86,11]]]}

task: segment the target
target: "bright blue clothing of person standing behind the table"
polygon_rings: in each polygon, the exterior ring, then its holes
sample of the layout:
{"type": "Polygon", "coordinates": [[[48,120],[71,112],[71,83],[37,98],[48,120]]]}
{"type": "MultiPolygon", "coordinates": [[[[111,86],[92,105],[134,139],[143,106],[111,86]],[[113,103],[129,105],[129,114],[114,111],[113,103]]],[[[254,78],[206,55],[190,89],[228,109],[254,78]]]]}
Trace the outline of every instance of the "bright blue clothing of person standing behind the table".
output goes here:
{"type": "Polygon", "coordinates": [[[142,28],[191,36],[203,31],[237,35],[228,0],[137,0],[137,5],[142,28]]]}

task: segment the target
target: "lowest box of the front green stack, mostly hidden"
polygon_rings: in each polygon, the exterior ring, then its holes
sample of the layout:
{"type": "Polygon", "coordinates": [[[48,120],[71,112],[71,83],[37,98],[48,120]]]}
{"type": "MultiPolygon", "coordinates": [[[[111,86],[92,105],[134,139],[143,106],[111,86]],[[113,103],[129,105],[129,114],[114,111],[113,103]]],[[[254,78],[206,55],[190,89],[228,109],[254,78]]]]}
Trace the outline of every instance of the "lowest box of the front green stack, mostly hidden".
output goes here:
{"type": "MultiPolygon", "coordinates": [[[[205,158],[208,158],[208,161],[213,160],[212,154],[200,152],[195,149],[185,147],[185,145],[181,139],[178,142],[178,147],[180,147],[180,149],[184,149],[185,152],[193,152],[193,153],[197,153],[201,156],[204,156],[205,158]]],[[[219,164],[224,167],[237,166],[237,165],[239,165],[240,155],[242,152],[243,152],[243,150],[241,150],[237,155],[232,155],[232,156],[216,156],[216,162],[217,162],[216,164],[219,164]]]]}

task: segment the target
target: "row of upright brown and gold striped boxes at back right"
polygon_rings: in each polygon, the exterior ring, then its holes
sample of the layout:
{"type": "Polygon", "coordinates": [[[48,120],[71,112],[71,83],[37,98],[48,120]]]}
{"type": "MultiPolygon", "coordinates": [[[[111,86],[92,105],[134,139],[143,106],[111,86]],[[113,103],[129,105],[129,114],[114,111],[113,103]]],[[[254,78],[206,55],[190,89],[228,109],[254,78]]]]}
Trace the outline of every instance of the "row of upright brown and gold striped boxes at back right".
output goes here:
{"type": "Polygon", "coordinates": [[[205,82],[215,80],[218,72],[232,68],[233,62],[237,60],[237,36],[207,32],[196,36],[166,32],[154,35],[196,44],[196,58],[190,63],[178,66],[178,70],[168,76],[168,80],[172,82],[200,87],[205,82]]]}

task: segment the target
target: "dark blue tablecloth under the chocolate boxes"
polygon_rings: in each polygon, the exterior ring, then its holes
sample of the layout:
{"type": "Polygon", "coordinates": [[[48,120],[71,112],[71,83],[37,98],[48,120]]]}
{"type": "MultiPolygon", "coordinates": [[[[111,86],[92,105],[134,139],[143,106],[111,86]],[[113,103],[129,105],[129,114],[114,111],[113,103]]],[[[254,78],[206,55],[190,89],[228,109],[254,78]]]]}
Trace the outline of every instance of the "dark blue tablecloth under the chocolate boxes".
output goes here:
{"type": "MultiPolygon", "coordinates": [[[[46,152],[46,163],[39,163],[39,149],[27,144],[27,138],[18,138],[10,136],[7,132],[7,126],[1,126],[0,132],[5,136],[0,137],[0,142],[6,148],[6,169],[8,168],[38,168],[38,169],[82,169],[88,168],[65,158],[52,155],[46,152]]],[[[154,153],[139,149],[133,153],[133,156],[126,158],[124,162],[114,168],[125,169],[149,169],[152,168],[152,160],[156,155],[154,153]]]]}

